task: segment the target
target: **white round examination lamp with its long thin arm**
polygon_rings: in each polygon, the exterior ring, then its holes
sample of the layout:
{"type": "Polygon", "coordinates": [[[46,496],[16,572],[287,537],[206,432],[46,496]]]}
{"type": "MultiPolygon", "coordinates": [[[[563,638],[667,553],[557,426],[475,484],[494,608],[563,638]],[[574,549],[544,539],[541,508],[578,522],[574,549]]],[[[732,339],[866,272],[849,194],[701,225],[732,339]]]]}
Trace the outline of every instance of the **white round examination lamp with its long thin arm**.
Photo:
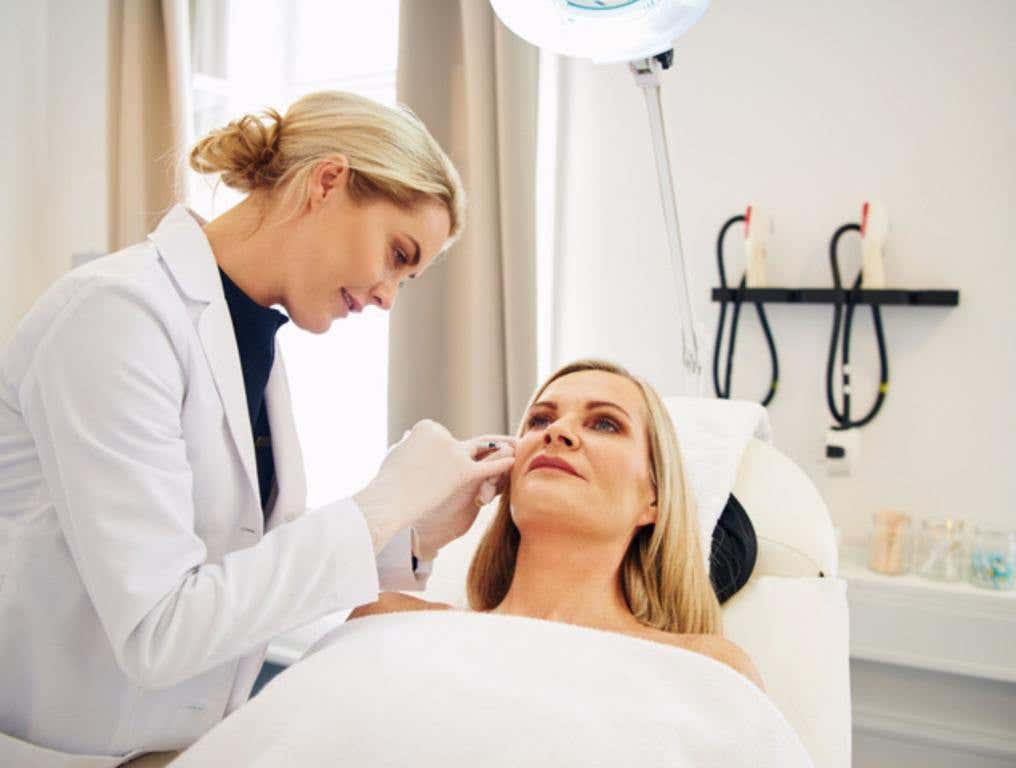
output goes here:
{"type": "Polygon", "coordinates": [[[692,310],[691,274],[681,248],[678,204],[663,131],[659,72],[674,61],[674,41],[688,30],[709,0],[491,0],[505,26],[534,46],[597,63],[627,61],[642,88],[671,266],[681,314],[685,369],[701,384],[698,326],[692,310]]]}

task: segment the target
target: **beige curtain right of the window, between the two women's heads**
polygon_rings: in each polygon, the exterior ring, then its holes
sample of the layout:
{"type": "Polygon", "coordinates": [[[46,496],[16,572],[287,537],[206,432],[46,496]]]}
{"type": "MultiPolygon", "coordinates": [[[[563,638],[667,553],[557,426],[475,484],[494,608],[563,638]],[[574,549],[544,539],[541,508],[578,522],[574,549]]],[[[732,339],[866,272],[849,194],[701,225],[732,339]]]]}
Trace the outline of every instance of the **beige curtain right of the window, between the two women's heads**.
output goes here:
{"type": "Polygon", "coordinates": [[[536,385],[538,51],[488,0],[403,2],[397,97],[462,175],[462,238],[391,315],[389,440],[420,419],[513,430],[536,385]]]}

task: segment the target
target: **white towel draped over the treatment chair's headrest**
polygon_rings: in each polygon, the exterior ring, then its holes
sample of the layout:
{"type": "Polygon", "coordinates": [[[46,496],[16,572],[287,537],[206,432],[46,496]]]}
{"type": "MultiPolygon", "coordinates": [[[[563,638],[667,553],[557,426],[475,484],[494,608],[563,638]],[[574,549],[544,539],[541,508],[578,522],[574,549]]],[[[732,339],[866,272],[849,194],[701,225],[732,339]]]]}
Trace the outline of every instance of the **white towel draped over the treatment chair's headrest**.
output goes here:
{"type": "Polygon", "coordinates": [[[708,568],[712,531],[738,478],[748,441],[754,437],[772,442],[769,413],[747,400],[664,397],[663,402],[678,433],[685,473],[698,506],[702,555],[708,568]]]}

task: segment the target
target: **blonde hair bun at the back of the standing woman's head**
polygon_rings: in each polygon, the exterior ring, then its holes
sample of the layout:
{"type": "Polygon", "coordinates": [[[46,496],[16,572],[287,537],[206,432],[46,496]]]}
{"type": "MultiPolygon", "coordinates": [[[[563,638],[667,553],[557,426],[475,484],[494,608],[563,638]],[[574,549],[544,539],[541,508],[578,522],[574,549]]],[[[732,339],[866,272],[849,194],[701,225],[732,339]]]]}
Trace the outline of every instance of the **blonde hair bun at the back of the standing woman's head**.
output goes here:
{"type": "Polygon", "coordinates": [[[221,174],[223,183],[240,192],[271,186],[278,180],[272,166],[281,128],[282,116],[275,110],[244,115],[198,141],[190,167],[199,174],[221,174]]]}

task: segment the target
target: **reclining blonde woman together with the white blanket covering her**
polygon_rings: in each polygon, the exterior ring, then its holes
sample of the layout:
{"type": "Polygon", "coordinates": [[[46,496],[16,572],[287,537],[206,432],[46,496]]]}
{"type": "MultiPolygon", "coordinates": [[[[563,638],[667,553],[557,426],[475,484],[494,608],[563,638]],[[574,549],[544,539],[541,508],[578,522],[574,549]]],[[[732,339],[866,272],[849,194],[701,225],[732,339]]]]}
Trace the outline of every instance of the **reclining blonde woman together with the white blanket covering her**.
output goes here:
{"type": "Polygon", "coordinates": [[[812,766],[720,635],[655,393],[582,363],[533,400],[472,611],[383,594],[354,616],[387,616],[336,627],[174,768],[812,766]]]}

